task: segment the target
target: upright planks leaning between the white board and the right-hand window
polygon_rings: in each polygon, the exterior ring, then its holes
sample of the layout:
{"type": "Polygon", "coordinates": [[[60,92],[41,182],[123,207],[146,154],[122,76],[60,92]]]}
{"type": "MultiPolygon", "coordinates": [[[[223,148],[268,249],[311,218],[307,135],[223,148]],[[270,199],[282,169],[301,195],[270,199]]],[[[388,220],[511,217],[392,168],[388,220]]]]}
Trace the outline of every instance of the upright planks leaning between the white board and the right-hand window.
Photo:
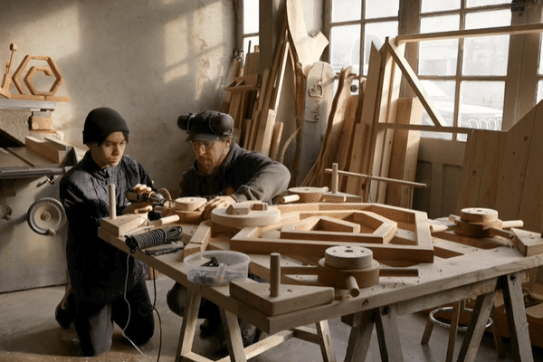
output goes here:
{"type": "MultiPolygon", "coordinates": [[[[403,47],[398,49],[390,41],[380,51],[372,46],[368,76],[360,80],[357,95],[350,91],[356,75],[350,67],[341,71],[319,159],[301,186],[329,186],[324,170],[333,163],[350,173],[414,181],[420,131],[393,127],[420,125],[422,119],[419,100],[399,97],[402,74],[410,70],[402,52],[403,47]]],[[[413,74],[409,76],[407,81],[420,87],[413,74]]],[[[361,195],[370,202],[403,207],[411,202],[405,186],[387,191],[388,183],[369,177],[349,177],[338,187],[340,192],[361,195]]]]}

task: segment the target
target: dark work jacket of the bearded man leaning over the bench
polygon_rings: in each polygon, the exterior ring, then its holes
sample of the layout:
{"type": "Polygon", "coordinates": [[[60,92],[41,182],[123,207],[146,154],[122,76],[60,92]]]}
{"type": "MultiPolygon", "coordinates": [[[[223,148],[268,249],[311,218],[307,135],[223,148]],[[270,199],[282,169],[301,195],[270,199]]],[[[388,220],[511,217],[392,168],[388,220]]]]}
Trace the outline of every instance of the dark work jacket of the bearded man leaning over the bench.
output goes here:
{"type": "Polygon", "coordinates": [[[179,196],[200,196],[211,200],[215,196],[231,195],[238,202],[260,200],[270,202],[284,192],[291,181],[289,169],[258,152],[250,152],[233,143],[219,171],[206,176],[198,171],[195,161],[179,184],[179,196]]]}

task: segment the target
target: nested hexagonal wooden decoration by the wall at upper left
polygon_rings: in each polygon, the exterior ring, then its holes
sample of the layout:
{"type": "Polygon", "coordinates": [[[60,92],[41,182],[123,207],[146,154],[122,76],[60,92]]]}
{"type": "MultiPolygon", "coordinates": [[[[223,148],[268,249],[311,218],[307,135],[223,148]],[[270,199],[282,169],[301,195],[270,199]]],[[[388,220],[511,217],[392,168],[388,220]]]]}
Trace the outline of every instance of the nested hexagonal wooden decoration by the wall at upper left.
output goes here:
{"type": "Polygon", "coordinates": [[[21,64],[19,65],[19,68],[17,68],[17,70],[14,72],[14,76],[12,78],[12,81],[14,82],[15,88],[17,88],[17,90],[19,90],[19,93],[26,94],[26,92],[24,91],[24,88],[23,88],[19,78],[21,78],[21,75],[24,73],[24,71],[26,71],[26,67],[33,60],[47,62],[47,64],[49,64],[49,68],[46,68],[46,67],[32,67],[26,73],[26,76],[24,77],[24,84],[26,84],[26,86],[28,87],[28,90],[30,90],[31,94],[33,94],[33,95],[38,95],[38,96],[40,96],[40,95],[42,95],[42,96],[52,96],[52,95],[54,95],[56,93],[56,91],[59,89],[59,87],[61,86],[63,78],[62,78],[61,71],[57,67],[56,63],[52,60],[52,57],[45,56],[45,55],[26,55],[24,57],[23,62],[21,62],[21,64]],[[50,90],[48,90],[48,91],[38,91],[38,90],[35,89],[35,87],[34,87],[34,85],[32,83],[32,79],[33,79],[33,76],[35,75],[35,73],[37,71],[43,71],[45,73],[45,75],[48,75],[48,76],[53,75],[55,77],[55,81],[52,83],[52,87],[51,87],[50,90]]]}

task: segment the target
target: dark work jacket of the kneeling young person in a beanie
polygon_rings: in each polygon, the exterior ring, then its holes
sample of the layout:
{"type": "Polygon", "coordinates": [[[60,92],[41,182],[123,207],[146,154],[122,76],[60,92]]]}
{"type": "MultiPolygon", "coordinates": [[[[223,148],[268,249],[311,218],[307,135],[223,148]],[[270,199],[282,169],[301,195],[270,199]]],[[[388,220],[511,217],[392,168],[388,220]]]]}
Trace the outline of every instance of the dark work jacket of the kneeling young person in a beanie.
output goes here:
{"type": "MultiPolygon", "coordinates": [[[[78,300],[110,304],[124,293],[128,255],[98,237],[100,220],[110,217],[110,184],[115,185],[117,214],[121,214],[129,205],[127,191],[137,184],[152,186],[152,180],[132,157],[123,156],[116,167],[100,168],[88,151],[60,183],[69,223],[68,275],[78,300]]],[[[128,290],[146,276],[147,265],[129,257],[128,290]]]]}

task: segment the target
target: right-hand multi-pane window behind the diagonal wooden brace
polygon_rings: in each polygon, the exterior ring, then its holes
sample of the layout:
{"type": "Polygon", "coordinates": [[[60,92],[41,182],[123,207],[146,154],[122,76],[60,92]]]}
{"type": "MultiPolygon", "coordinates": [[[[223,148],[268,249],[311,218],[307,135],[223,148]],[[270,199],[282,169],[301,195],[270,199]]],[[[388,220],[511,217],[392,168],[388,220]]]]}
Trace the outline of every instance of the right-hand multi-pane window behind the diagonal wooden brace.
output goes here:
{"type": "MultiPolygon", "coordinates": [[[[503,0],[422,0],[420,32],[509,26],[510,6],[503,3],[503,0]]],[[[447,126],[502,128],[509,38],[499,35],[419,43],[419,79],[447,126]]],[[[426,112],[423,122],[432,124],[426,112]]],[[[423,132],[422,136],[466,138],[462,134],[434,132],[423,132]]]]}

